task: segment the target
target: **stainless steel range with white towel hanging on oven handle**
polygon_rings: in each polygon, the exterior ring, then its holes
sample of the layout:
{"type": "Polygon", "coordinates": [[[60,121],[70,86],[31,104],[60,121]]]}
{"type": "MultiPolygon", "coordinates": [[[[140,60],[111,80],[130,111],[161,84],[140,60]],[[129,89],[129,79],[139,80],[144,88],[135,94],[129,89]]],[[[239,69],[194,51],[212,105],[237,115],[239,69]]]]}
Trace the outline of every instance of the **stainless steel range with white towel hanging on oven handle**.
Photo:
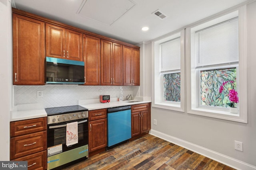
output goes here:
{"type": "Polygon", "coordinates": [[[46,108],[47,169],[61,170],[88,157],[88,109],[46,108]]]}

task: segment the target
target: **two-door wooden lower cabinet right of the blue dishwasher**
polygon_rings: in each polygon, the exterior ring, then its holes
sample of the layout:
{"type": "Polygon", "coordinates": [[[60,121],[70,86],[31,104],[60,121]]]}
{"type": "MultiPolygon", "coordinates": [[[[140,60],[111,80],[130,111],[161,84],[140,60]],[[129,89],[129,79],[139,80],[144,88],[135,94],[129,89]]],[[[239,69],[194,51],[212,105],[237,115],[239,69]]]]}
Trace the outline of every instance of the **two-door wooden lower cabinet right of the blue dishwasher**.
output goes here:
{"type": "Polygon", "coordinates": [[[132,105],[132,139],[140,137],[151,129],[150,103],[132,105]]]}

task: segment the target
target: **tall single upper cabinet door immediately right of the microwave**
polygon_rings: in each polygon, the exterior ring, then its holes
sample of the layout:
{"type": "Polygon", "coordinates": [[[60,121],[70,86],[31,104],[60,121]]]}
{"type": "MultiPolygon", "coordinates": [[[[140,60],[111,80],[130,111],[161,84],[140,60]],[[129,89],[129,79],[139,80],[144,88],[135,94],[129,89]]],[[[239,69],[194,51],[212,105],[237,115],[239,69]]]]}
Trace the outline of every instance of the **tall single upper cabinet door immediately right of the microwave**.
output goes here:
{"type": "Polygon", "coordinates": [[[100,38],[83,35],[85,84],[100,85],[100,38]]]}

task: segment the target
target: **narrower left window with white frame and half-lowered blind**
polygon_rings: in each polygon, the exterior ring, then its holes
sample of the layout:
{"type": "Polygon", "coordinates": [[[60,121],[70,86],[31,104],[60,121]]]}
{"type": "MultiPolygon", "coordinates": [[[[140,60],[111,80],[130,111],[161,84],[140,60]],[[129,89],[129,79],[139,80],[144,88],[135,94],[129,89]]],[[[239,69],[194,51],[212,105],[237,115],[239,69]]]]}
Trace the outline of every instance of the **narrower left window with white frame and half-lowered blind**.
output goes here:
{"type": "Polygon", "coordinates": [[[152,43],[154,45],[152,106],[184,111],[184,30],[152,43]]]}

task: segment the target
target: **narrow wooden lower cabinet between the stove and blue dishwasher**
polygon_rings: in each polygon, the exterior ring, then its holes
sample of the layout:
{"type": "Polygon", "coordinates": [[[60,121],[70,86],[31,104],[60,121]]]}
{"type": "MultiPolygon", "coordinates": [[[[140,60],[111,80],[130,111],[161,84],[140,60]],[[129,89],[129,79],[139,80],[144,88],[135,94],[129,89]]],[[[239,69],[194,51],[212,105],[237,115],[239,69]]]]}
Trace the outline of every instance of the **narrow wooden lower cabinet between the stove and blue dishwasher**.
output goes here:
{"type": "Polygon", "coordinates": [[[89,111],[89,156],[106,150],[107,123],[107,109],[89,111]]]}

